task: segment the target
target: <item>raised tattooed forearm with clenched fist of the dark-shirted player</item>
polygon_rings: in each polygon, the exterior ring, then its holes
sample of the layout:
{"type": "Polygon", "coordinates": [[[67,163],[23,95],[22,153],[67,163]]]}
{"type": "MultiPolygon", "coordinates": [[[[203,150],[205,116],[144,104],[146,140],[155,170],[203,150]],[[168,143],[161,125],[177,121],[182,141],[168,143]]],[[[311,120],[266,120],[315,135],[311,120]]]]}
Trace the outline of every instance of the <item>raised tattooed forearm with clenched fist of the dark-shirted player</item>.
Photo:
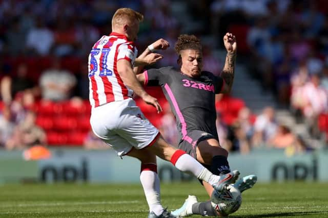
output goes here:
{"type": "Polygon", "coordinates": [[[224,63],[223,70],[221,72],[221,78],[224,80],[226,85],[223,87],[221,93],[229,93],[232,88],[232,84],[235,77],[235,62],[237,56],[237,41],[236,37],[231,34],[227,33],[223,37],[224,46],[227,49],[227,57],[226,62],[224,63]]]}

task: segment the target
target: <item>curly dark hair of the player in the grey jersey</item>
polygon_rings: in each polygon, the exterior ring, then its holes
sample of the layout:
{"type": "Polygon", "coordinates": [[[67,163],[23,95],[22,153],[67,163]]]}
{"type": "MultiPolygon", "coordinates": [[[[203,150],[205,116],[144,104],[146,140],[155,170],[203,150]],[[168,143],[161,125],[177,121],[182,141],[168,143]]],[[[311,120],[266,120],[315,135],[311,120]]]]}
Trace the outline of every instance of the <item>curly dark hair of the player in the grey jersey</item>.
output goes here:
{"type": "Polygon", "coordinates": [[[200,40],[195,35],[180,35],[174,46],[175,52],[180,55],[182,50],[193,49],[201,52],[200,40]]]}

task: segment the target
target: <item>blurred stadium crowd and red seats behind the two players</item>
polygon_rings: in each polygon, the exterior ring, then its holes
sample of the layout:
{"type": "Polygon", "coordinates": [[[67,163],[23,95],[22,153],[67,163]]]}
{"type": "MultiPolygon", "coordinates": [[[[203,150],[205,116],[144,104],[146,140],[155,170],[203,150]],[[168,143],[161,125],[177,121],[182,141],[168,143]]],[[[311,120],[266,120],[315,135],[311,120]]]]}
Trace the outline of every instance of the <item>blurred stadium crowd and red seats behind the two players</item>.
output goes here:
{"type": "MultiPolygon", "coordinates": [[[[93,43],[111,32],[111,17],[120,7],[144,14],[139,51],[158,38],[171,43],[156,66],[177,67],[173,45],[180,33],[189,33],[202,39],[203,70],[219,75],[223,60],[215,51],[222,49],[223,35],[233,33],[237,64],[248,63],[263,91],[290,107],[312,137],[328,133],[328,5],[323,0],[11,0],[0,1],[0,147],[104,148],[90,131],[87,57],[93,43]]],[[[137,100],[138,105],[176,143],[165,98],[160,89],[148,91],[164,112],[158,115],[137,100]]],[[[247,104],[218,96],[217,130],[224,148],[247,154],[266,144],[291,155],[312,149],[276,121],[274,108],[254,114],[247,104]]]]}

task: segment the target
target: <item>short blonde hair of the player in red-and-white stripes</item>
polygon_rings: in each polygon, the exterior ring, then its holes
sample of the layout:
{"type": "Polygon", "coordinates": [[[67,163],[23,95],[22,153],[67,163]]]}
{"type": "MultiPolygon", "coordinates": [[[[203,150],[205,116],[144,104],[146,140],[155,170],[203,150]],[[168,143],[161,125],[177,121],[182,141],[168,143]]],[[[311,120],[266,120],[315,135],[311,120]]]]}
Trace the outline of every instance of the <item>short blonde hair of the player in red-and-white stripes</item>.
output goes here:
{"type": "Polygon", "coordinates": [[[131,8],[120,8],[117,9],[112,18],[112,27],[124,25],[125,21],[133,22],[134,20],[141,22],[144,20],[144,15],[132,10],[131,8]]]}

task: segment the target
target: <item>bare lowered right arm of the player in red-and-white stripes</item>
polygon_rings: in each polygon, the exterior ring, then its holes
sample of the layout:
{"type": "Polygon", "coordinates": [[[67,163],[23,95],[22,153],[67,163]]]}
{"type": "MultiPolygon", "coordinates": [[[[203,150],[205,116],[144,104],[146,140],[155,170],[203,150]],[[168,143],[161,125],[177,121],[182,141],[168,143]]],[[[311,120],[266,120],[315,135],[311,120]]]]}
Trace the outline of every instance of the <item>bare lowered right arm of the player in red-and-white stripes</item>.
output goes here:
{"type": "Polygon", "coordinates": [[[117,61],[117,71],[122,81],[126,86],[131,88],[137,95],[140,96],[144,102],[149,105],[152,105],[156,108],[157,112],[161,112],[162,108],[160,107],[157,99],[149,95],[145,89],[141,86],[139,81],[136,78],[136,75],[133,72],[131,63],[128,60],[120,59],[117,61]]]}

